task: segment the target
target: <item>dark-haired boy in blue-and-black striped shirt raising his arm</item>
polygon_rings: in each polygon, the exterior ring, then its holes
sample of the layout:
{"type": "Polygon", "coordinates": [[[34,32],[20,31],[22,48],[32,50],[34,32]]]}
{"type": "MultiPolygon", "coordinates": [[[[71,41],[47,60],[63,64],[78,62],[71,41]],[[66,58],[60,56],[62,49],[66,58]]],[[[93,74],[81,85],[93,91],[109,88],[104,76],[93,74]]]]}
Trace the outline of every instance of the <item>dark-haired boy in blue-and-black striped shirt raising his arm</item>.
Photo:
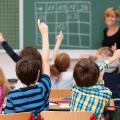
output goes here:
{"type": "Polygon", "coordinates": [[[38,20],[38,27],[42,35],[42,61],[22,58],[17,62],[17,77],[26,87],[9,92],[5,113],[32,112],[37,115],[48,110],[51,88],[48,26],[38,20]]]}

